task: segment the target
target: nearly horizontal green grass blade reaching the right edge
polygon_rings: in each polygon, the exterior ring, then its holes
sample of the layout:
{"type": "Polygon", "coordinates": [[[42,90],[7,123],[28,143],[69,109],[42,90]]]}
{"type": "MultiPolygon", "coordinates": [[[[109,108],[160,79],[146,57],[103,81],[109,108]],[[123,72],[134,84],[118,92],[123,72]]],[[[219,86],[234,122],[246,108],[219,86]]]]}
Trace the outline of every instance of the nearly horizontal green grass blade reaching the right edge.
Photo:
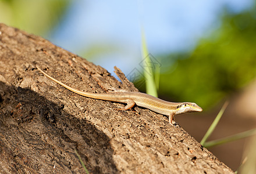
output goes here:
{"type": "Polygon", "coordinates": [[[256,129],[251,129],[249,131],[237,133],[235,135],[227,136],[227,137],[224,137],[222,139],[212,140],[210,142],[205,142],[203,146],[206,147],[206,148],[214,147],[214,146],[217,146],[219,144],[233,142],[233,141],[240,140],[240,139],[243,139],[245,137],[252,136],[252,135],[256,135],[256,129]]]}

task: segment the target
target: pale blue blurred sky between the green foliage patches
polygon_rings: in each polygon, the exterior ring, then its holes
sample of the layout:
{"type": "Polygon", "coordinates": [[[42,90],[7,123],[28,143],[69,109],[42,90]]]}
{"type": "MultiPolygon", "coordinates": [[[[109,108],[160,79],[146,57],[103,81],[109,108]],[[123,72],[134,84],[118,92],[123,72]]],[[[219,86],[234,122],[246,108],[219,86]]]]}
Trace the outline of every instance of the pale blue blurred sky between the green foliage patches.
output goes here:
{"type": "Polygon", "coordinates": [[[84,57],[113,72],[133,70],[142,57],[141,27],[153,56],[190,50],[219,27],[223,8],[234,13],[253,0],[73,1],[61,25],[49,35],[54,44],[81,55],[93,46],[107,49],[84,57]],[[109,48],[108,48],[109,47],[109,48]]]}

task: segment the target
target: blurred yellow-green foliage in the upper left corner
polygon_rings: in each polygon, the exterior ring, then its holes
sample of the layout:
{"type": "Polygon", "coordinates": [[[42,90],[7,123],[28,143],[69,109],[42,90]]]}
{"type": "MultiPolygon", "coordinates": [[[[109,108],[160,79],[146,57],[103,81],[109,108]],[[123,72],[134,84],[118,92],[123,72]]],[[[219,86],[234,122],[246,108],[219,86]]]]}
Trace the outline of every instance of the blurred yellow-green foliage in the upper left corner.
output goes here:
{"type": "Polygon", "coordinates": [[[58,26],[69,3],[67,0],[1,0],[0,22],[45,35],[58,26]]]}

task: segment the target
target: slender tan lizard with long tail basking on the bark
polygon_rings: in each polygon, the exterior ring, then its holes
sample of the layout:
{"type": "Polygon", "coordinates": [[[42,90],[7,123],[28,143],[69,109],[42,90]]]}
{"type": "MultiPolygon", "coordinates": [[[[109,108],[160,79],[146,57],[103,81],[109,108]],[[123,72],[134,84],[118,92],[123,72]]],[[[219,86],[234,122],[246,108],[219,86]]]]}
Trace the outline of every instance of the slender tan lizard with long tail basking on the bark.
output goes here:
{"type": "Polygon", "coordinates": [[[115,92],[115,93],[83,92],[81,90],[77,90],[63,84],[62,82],[58,81],[57,79],[51,77],[50,75],[42,71],[41,68],[39,68],[38,66],[36,67],[46,77],[56,82],[57,84],[63,86],[64,88],[71,90],[74,93],[77,93],[78,95],[93,98],[93,99],[98,99],[98,100],[107,100],[111,102],[126,103],[127,105],[125,107],[116,108],[116,110],[122,110],[122,111],[129,110],[136,104],[137,106],[148,108],[154,111],[155,113],[167,115],[169,117],[170,125],[173,125],[173,122],[175,122],[173,118],[175,115],[202,111],[202,108],[195,103],[167,102],[165,100],[159,99],[158,97],[154,97],[154,96],[148,95],[147,93],[142,93],[142,92],[115,92]]]}

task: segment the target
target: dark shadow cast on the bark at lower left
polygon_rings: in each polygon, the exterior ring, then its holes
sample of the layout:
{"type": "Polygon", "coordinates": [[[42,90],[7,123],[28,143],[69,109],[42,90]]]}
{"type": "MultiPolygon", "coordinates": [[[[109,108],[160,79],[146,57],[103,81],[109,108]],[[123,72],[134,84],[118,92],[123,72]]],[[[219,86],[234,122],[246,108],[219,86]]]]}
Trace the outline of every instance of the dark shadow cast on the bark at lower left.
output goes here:
{"type": "Polygon", "coordinates": [[[108,136],[89,121],[30,89],[0,86],[0,171],[84,173],[77,149],[89,172],[118,173],[108,136]]]}

